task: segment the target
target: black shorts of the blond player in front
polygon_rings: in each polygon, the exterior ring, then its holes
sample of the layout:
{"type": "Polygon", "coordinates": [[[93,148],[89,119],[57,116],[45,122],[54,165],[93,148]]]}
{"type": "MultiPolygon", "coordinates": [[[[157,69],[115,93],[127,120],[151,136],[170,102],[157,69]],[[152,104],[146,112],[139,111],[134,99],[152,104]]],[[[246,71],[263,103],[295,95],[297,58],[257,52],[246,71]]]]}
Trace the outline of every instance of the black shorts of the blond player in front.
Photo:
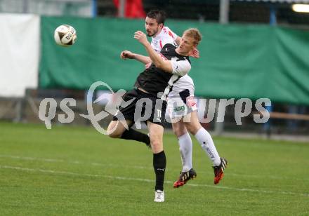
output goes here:
{"type": "Polygon", "coordinates": [[[113,121],[130,120],[133,123],[136,121],[150,121],[160,126],[164,126],[166,101],[161,100],[149,93],[144,93],[141,90],[133,89],[127,92],[122,99],[125,102],[132,100],[125,107],[121,103],[119,111],[113,117],[113,121]]]}

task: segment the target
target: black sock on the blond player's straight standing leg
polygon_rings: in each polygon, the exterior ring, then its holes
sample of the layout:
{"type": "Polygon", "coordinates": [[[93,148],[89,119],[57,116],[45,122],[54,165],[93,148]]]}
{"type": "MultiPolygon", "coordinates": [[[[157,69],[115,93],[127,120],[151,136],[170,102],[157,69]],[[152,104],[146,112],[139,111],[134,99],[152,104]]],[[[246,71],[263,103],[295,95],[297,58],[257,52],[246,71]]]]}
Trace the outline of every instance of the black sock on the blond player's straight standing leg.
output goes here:
{"type": "Polygon", "coordinates": [[[153,168],[156,174],[156,187],[155,190],[163,191],[164,174],[166,168],[166,157],[164,151],[153,154],[153,168]]]}

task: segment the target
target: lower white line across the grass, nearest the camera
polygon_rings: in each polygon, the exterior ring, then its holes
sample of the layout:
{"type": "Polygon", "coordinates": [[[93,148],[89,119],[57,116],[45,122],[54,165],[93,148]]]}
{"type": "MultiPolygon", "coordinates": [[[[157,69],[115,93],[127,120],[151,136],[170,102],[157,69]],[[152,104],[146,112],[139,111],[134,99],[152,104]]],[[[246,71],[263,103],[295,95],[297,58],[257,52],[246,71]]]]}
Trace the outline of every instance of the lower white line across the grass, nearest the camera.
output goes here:
{"type": "MultiPolygon", "coordinates": [[[[132,180],[139,182],[155,182],[154,180],[147,180],[142,178],[135,177],[121,177],[121,176],[112,176],[112,175],[95,175],[95,174],[81,174],[81,173],[72,173],[66,171],[57,171],[57,170],[43,170],[43,169],[32,169],[32,168],[21,168],[16,166],[0,166],[0,169],[13,169],[13,170],[22,170],[29,172],[39,172],[39,173],[53,173],[53,174],[63,174],[63,175],[77,175],[77,176],[87,176],[87,177],[105,177],[114,180],[132,180]]],[[[165,181],[167,184],[173,184],[171,181],[165,181]]],[[[216,189],[228,189],[233,191],[248,191],[248,192],[258,192],[264,194],[286,194],[286,195],[297,195],[297,196],[309,196],[309,194],[295,193],[290,191],[270,191],[270,190],[258,190],[258,189],[249,189],[249,188],[236,188],[236,187],[224,187],[224,186],[213,186],[209,184],[190,184],[187,185],[191,187],[211,187],[216,189]]]]}

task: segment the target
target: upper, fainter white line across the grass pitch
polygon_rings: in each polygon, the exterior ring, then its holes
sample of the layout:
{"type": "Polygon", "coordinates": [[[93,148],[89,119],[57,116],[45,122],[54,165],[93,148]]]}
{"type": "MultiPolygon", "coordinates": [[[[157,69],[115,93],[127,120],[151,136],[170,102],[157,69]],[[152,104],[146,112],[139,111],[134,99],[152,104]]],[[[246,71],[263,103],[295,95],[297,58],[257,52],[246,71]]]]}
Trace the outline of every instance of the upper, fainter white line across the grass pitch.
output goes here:
{"type": "MultiPolygon", "coordinates": [[[[117,164],[113,163],[96,163],[96,162],[81,162],[81,161],[65,161],[63,159],[53,159],[53,158],[34,158],[34,157],[25,157],[25,156],[13,156],[13,155],[4,155],[0,154],[0,158],[13,158],[13,159],[19,159],[19,160],[26,160],[26,161],[45,161],[49,163],[71,163],[71,164],[82,164],[82,165],[87,165],[90,164],[91,166],[103,166],[103,167],[119,167],[119,168],[134,168],[134,169],[145,169],[145,170],[153,170],[153,167],[150,166],[119,166],[117,164]]],[[[169,169],[173,171],[173,169],[169,169]]],[[[177,170],[178,171],[178,170],[177,170]]],[[[212,173],[211,171],[206,172],[206,171],[199,171],[198,173],[212,173]]],[[[253,178],[268,178],[268,179],[274,179],[274,180],[309,180],[307,178],[296,178],[296,177],[278,177],[278,176],[265,176],[265,175],[246,175],[246,174],[241,174],[241,173],[228,173],[228,175],[231,176],[240,176],[240,177],[253,177],[253,178]]]]}

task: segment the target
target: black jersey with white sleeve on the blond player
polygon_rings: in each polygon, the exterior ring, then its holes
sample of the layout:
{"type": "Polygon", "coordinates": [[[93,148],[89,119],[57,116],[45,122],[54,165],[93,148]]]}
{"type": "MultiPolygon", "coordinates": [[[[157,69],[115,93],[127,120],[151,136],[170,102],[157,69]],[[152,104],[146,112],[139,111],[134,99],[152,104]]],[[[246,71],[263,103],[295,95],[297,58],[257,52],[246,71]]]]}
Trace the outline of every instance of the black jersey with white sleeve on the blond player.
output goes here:
{"type": "Polygon", "coordinates": [[[179,69],[188,72],[191,68],[191,62],[188,56],[179,55],[176,53],[175,49],[176,46],[173,46],[171,43],[166,43],[159,53],[165,60],[171,60],[173,74],[164,72],[162,69],[155,67],[152,63],[149,68],[140,73],[134,86],[136,86],[136,88],[143,88],[155,97],[166,100],[166,96],[169,94],[173,83],[181,77],[176,72],[179,69]],[[158,95],[158,93],[163,94],[158,95]]]}

